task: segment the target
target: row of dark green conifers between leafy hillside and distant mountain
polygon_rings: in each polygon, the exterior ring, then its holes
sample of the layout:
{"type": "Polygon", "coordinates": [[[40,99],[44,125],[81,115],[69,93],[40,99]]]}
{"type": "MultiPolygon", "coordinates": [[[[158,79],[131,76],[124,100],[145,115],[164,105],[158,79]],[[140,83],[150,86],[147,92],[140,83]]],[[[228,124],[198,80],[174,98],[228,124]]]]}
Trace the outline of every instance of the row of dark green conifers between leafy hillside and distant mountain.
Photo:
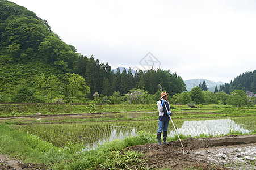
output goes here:
{"type": "MultiPolygon", "coordinates": [[[[177,73],[171,74],[170,70],[150,69],[137,70],[135,75],[132,74],[131,68],[121,73],[117,68],[116,73],[106,63],[99,63],[94,57],[80,57],[74,73],[85,78],[87,85],[90,87],[91,94],[111,96],[113,92],[120,92],[121,95],[127,94],[133,88],[139,88],[148,91],[149,94],[155,94],[160,88],[168,91],[171,95],[186,91],[186,85],[181,76],[177,73]]],[[[90,95],[92,96],[92,95],[90,95]]]]}

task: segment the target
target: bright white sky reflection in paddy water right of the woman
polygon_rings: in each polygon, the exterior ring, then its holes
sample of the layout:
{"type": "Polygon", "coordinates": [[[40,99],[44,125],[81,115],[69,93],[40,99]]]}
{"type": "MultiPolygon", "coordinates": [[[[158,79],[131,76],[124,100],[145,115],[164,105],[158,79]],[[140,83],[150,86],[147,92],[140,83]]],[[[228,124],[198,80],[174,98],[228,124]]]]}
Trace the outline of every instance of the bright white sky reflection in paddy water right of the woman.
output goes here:
{"type": "MultiPolygon", "coordinates": [[[[171,122],[169,126],[172,126],[171,122]]],[[[231,132],[249,133],[250,130],[242,128],[231,119],[218,119],[218,120],[200,120],[200,121],[184,121],[181,128],[177,128],[178,134],[187,136],[205,135],[225,135],[231,132]]],[[[170,137],[175,135],[175,131],[171,130],[170,137]]]]}

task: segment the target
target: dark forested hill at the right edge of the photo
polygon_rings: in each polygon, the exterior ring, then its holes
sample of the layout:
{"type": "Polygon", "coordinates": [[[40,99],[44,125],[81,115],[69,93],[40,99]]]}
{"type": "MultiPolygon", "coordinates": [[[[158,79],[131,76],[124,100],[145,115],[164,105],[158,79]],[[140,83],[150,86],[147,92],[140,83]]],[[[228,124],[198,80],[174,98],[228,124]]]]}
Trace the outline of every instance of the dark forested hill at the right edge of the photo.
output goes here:
{"type": "Polygon", "coordinates": [[[224,91],[227,94],[234,90],[250,91],[256,94],[256,70],[253,70],[253,72],[248,71],[242,75],[240,74],[233,82],[221,84],[219,89],[219,91],[224,91]]]}

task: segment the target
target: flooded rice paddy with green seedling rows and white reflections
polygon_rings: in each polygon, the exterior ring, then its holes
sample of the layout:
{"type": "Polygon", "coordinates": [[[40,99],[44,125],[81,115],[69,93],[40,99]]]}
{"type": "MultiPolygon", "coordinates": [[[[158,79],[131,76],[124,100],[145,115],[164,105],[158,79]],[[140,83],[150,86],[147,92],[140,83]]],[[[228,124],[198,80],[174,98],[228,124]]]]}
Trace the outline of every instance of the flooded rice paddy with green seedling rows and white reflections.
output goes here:
{"type": "MultiPolygon", "coordinates": [[[[174,119],[178,134],[187,137],[200,135],[218,136],[236,133],[250,133],[256,129],[256,117],[174,119]]],[[[57,124],[15,125],[16,129],[36,135],[44,141],[63,147],[66,142],[83,144],[87,148],[97,144],[124,139],[138,131],[156,134],[157,120],[91,121],[57,124]]],[[[167,135],[175,136],[171,121],[167,135]]]]}

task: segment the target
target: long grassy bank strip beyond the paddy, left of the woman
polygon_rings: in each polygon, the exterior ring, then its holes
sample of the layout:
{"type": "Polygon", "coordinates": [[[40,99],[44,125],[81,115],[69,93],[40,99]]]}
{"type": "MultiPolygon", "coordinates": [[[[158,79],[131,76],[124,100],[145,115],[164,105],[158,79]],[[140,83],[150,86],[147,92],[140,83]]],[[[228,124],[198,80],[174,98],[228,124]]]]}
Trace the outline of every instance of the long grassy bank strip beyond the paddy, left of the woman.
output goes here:
{"type": "Polygon", "coordinates": [[[66,113],[104,113],[104,112],[129,112],[156,110],[156,105],[142,104],[115,104],[115,105],[25,105],[1,104],[0,117],[15,117],[22,115],[41,114],[66,114],[66,113]]]}

